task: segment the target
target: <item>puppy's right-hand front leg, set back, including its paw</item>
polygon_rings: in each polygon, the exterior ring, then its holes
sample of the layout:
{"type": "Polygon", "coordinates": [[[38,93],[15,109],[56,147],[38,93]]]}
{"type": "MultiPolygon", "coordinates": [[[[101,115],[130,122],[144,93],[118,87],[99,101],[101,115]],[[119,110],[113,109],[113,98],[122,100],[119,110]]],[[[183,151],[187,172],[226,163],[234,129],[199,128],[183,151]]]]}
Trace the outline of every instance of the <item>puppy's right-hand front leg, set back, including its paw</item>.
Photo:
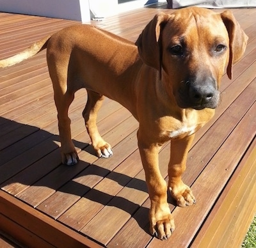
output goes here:
{"type": "Polygon", "coordinates": [[[186,169],[188,151],[195,135],[171,141],[171,158],[168,167],[169,189],[178,206],[188,206],[195,203],[191,189],[182,182],[181,176],[186,169]]]}

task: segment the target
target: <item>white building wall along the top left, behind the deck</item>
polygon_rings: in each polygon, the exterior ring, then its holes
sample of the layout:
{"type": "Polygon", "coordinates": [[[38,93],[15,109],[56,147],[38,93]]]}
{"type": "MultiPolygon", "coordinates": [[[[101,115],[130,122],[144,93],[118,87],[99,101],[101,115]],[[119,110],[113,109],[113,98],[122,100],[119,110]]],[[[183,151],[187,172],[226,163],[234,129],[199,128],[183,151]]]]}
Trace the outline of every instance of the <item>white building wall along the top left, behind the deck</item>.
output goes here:
{"type": "Polygon", "coordinates": [[[0,0],[0,12],[90,22],[91,17],[108,17],[158,1],[165,0],[131,0],[121,4],[118,0],[0,0]]]}

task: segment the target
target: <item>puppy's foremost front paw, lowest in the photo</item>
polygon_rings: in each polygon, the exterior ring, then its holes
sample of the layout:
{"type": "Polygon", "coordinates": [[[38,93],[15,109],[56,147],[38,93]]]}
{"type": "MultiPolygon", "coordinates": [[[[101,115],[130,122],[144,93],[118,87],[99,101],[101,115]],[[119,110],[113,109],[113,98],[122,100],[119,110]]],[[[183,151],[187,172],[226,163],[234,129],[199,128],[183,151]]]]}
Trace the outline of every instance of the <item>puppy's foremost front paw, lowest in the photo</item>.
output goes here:
{"type": "Polygon", "coordinates": [[[175,229],[168,204],[150,209],[150,233],[161,240],[167,240],[175,229]]]}

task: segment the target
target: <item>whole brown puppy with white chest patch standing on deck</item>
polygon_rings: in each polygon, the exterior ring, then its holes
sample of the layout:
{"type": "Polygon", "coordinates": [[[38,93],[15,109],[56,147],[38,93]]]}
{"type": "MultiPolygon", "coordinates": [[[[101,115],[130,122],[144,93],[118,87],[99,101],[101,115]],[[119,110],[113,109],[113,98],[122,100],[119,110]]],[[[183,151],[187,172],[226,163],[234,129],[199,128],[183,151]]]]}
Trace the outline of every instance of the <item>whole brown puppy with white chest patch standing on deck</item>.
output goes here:
{"type": "Polygon", "coordinates": [[[97,27],[67,27],[24,52],[0,61],[10,66],[47,48],[47,62],[58,110],[63,162],[77,163],[68,107],[77,89],[86,88],[83,111],[92,146],[99,157],[112,155],[97,126],[103,95],[120,102],[140,122],[138,146],[145,169],[150,232],[168,238],[175,228],[167,189],[177,205],[195,203],[181,180],[196,130],[214,115],[221,76],[243,56],[247,36],[231,12],[186,8],[160,13],[145,27],[136,45],[97,27]],[[158,153],[172,140],[169,182],[161,176],[158,153]]]}

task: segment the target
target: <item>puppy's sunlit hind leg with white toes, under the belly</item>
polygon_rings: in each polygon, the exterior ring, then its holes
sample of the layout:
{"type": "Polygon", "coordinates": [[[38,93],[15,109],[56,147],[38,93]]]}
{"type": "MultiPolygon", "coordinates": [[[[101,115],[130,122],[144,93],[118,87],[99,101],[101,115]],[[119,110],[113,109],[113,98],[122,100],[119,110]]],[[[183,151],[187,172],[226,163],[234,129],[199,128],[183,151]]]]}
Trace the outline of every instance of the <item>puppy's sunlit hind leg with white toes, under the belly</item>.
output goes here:
{"type": "Polygon", "coordinates": [[[92,146],[98,157],[108,158],[113,155],[110,144],[106,143],[99,134],[97,128],[97,112],[99,111],[104,97],[87,89],[88,100],[83,111],[83,117],[87,132],[92,141],[92,146]]]}

